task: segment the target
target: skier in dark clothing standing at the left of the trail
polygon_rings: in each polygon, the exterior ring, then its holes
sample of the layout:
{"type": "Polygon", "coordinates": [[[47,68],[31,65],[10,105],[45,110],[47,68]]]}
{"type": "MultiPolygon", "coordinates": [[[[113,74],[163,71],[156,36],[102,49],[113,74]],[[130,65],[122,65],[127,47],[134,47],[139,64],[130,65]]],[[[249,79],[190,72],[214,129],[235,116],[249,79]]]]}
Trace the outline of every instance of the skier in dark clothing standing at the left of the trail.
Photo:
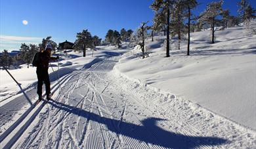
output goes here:
{"type": "Polygon", "coordinates": [[[43,83],[45,83],[45,91],[47,100],[51,99],[51,82],[49,79],[48,74],[48,68],[49,68],[49,62],[51,60],[58,60],[58,56],[56,58],[51,57],[51,51],[53,50],[53,47],[51,46],[51,43],[47,43],[45,49],[41,50],[39,52],[39,64],[37,66],[37,95],[39,96],[38,100],[42,100],[42,86],[43,83]]]}

